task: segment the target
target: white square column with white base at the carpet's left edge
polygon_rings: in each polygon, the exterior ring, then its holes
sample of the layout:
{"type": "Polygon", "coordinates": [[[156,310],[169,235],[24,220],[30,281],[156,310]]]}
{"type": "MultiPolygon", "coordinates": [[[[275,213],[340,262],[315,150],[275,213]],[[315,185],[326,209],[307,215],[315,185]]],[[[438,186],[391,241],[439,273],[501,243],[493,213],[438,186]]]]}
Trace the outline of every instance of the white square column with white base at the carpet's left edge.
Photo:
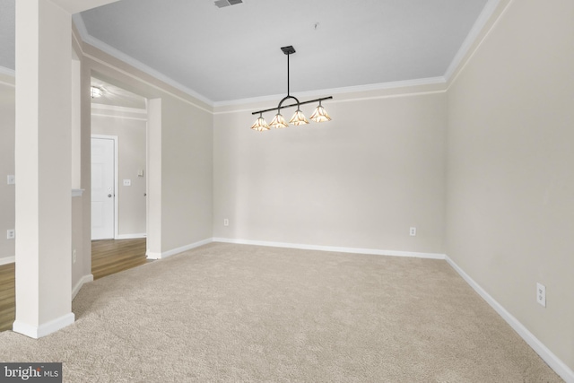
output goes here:
{"type": "Polygon", "coordinates": [[[74,323],[71,301],[71,14],[16,2],[16,321],[39,338],[74,323]]]}

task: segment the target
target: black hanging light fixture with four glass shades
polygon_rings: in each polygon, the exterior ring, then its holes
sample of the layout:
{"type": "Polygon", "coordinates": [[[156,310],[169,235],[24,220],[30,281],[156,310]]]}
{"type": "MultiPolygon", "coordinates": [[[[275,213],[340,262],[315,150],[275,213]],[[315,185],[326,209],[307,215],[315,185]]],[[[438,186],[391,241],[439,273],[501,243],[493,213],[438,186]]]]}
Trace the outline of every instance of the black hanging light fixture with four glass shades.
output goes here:
{"type": "Polygon", "coordinates": [[[277,108],[257,110],[257,112],[253,112],[252,114],[254,114],[254,115],[258,114],[259,117],[255,121],[255,123],[251,126],[251,129],[257,130],[259,132],[263,132],[265,130],[269,130],[270,126],[273,126],[274,128],[278,129],[281,127],[287,127],[287,126],[289,126],[289,124],[292,124],[294,126],[309,124],[309,121],[307,120],[307,118],[305,118],[305,115],[301,111],[300,106],[304,105],[304,104],[310,104],[311,102],[317,102],[317,101],[318,101],[319,105],[317,106],[317,108],[315,109],[313,114],[311,115],[310,119],[315,121],[315,122],[330,121],[331,118],[326,113],[325,108],[321,105],[321,101],[331,100],[331,99],[333,99],[332,96],[323,97],[321,99],[316,99],[316,100],[304,101],[304,102],[300,102],[299,100],[297,100],[296,97],[291,96],[290,88],[289,88],[289,56],[292,55],[293,53],[295,53],[295,48],[293,48],[292,46],[289,46],[289,47],[283,47],[283,48],[281,48],[281,50],[283,50],[283,53],[285,55],[287,55],[287,96],[283,97],[283,100],[279,101],[279,105],[277,106],[277,108]],[[283,102],[285,100],[288,100],[288,99],[293,99],[297,103],[283,106],[283,102]],[[297,107],[297,110],[295,110],[295,114],[293,115],[293,117],[291,117],[291,119],[289,120],[289,123],[287,123],[285,121],[285,118],[283,118],[283,115],[281,114],[281,109],[291,108],[291,107],[297,107]],[[275,115],[275,117],[271,121],[271,124],[267,125],[265,118],[263,118],[263,114],[265,112],[272,111],[275,109],[277,110],[277,114],[275,115]]]}

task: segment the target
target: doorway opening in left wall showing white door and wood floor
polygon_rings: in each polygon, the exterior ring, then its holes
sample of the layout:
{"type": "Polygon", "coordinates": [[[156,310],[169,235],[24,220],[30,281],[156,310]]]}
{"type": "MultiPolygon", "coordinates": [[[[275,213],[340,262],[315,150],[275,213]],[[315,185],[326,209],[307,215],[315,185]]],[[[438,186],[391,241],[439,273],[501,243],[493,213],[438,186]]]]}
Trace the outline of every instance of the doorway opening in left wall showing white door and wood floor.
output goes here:
{"type": "Polygon", "coordinates": [[[91,272],[95,279],[146,259],[147,100],[91,77],[91,272]]]}

